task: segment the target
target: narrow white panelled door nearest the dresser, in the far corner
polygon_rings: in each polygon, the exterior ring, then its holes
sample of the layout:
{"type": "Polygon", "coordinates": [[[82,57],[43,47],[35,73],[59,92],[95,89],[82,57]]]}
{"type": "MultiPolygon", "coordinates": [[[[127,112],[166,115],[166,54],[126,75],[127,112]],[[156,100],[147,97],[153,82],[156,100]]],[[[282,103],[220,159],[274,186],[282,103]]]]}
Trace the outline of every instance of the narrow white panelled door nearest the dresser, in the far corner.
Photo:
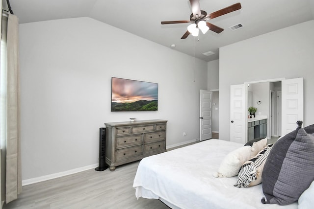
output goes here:
{"type": "Polygon", "coordinates": [[[211,139],[212,92],[201,90],[200,141],[211,139]]]}

